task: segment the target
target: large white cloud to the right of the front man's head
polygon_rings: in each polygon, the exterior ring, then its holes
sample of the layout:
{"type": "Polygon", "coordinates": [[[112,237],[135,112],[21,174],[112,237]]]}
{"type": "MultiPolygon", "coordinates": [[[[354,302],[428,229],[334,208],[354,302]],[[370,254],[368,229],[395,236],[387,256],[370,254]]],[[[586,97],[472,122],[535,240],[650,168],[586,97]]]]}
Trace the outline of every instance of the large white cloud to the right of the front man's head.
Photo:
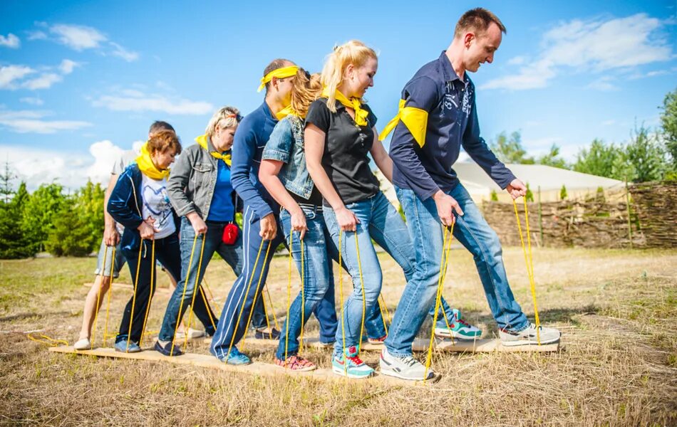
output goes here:
{"type": "MultiPolygon", "coordinates": [[[[541,52],[532,63],[524,63],[516,73],[490,80],[482,88],[544,88],[560,73],[601,73],[670,60],[671,43],[659,31],[664,25],[646,14],[562,23],[544,33],[541,52]]],[[[512,65],[519,65],[517,58],[511,60],[512,65]]]]}

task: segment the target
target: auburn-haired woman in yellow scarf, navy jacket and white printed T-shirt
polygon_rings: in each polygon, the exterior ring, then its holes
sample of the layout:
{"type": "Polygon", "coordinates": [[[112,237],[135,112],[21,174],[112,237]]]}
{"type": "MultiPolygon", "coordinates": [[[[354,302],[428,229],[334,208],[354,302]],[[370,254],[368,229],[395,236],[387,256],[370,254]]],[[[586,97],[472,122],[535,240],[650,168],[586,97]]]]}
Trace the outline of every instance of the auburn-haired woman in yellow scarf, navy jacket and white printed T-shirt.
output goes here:
{"type": "Polygon", "coordinates": [[[120,331],[115,337],[118,352],[140,352],[145,313],[150,304],[154,241],[155,257],[174,278],[181,277],[178,216],[167,196],[167,176],[181,143],[171,130],[155,133],[142,147],[136,163],[120,174],[108,199],[108,213],[125,227],[120,251],[135,279],[135,295],[123,312],[120,331]],[[132,307],[133,306],[133,307],[132,307]],[[134,310],[134,312],[132,312],[134,310]]]}

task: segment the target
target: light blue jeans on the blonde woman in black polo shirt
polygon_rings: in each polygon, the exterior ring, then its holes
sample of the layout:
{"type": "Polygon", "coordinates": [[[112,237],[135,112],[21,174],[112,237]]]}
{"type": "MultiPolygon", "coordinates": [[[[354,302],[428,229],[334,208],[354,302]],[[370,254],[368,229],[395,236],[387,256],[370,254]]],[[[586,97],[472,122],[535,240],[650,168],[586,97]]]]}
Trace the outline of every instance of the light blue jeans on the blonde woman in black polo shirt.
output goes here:
{"type": "MultiPolygon", "coordinates": [[[[376,241],[381,248],[385,249],[403,268],[405,277],[411,277],[413,272],[413,247],[408,238],[407,227],[402,217],[393,205],[383,196],[378,194],[348,204],[350,209],[359,219],[357,232],[341,232],[341,256],[348,273],[353,280],[353,293],[348,297],[343,306],[343,320],[338,322],[336,331],[336,344],[334,355],[343,351],[342,324],[345,327],[346,347],[356,346],[360,339],[360,327],[363,312],[363,300],[366,309],[365,327],[370,337],[382,337],[385,335],[383,319],[378,310],[378,294],[381,293],[383,275],[381,264],[378,262],[376,250],[371,239],[376,241]],[[357,237],[356,237],[357,236],[357,237]],[[359,257],[356,249],[356,240],[359,246],[359,257]],[[364,297],[362,295],[362,283],[360,281],[360,263],[364,284],[364,297]],[[376,332],[383,331],[382,333],[376,332]]],[[[326,222],[334,245],[338,245],[338,223],[336,214],[330,207],[324,207],[324,220],[326,222]]]]}

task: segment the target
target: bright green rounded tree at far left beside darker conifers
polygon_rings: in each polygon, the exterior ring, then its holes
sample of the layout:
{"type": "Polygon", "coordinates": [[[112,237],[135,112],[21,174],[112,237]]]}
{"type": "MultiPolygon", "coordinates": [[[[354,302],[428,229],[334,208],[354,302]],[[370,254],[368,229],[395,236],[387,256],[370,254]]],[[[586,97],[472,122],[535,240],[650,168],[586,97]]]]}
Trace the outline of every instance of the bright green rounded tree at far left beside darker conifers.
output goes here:
{"type": "Polygon", "coordinates": [[[61,184],[42,184],[24,205],[23,228],[34,253],[43,250],[53,219],[66,201],[62,190],[61,184]]]}

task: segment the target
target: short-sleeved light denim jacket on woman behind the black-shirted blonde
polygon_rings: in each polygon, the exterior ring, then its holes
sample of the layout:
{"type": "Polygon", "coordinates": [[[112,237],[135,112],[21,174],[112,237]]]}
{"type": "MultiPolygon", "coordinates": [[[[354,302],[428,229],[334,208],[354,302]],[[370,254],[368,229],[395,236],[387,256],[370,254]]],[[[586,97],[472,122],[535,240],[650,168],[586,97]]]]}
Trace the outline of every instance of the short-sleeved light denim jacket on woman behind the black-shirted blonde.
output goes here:
{"type": "Polygon", "coordinates": [[[306,168],[303,120],[289,115],[275,125],[263,150],[262,160],[266,159],[284,163],[278,174],[284,188],[310,199],[315,184],[306,168]]]}

